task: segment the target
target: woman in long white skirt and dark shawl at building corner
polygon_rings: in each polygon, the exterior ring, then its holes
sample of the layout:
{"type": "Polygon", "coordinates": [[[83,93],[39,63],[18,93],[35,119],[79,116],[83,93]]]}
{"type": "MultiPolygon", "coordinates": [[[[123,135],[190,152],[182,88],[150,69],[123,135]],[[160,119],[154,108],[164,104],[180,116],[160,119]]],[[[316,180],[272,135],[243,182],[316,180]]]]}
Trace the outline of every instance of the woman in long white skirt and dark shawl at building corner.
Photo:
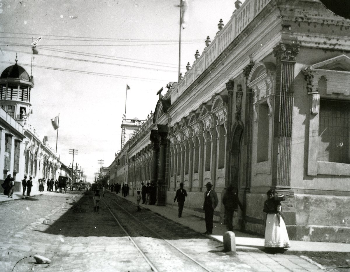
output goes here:
{"type": "Polygon", "coordinates": [[[283,221],[281,205],[281,201],[286,200],[286,196],[277,196],[274,190],[267,191],[268,199],[264,202],[263,210],[266,213],[265,248],[270,251],[289,248],[289,237],[283,221]]]}

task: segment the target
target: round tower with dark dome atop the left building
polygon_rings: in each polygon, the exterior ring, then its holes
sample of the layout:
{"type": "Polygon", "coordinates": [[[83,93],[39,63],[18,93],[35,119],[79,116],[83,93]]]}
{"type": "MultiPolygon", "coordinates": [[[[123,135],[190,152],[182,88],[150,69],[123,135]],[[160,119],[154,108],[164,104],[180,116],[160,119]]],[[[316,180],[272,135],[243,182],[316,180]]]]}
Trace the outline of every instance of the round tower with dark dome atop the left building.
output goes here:
{"type": "Polygon", "coordinates": [[[30,92],[33,77],[16,63],[7,67],[0,76],[0,106],[14,119],[25,122],[31,112],[30,92]]]}

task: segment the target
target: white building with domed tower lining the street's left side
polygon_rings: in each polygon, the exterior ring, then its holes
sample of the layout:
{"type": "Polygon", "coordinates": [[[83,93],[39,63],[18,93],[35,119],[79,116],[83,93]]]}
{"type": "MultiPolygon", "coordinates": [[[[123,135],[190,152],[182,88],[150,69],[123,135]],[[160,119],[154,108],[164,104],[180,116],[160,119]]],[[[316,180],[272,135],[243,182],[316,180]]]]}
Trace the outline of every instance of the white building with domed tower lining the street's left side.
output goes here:
{"type": "MultiPolygon", "coordinates": [[[[16,63],[0,76],[0,171],[3,179],[15,178],[15,191],[22,190],[21,180],[33,177],[33,189],[38,190],[38,179],[58,179],[60,173],[70,175],[53,148],[38,135],[29,123],[32,113],[30,98],[34,87],[23,67],[16,63]]],[[[2,190],[2,188],[1,188],[2,190]]]]}

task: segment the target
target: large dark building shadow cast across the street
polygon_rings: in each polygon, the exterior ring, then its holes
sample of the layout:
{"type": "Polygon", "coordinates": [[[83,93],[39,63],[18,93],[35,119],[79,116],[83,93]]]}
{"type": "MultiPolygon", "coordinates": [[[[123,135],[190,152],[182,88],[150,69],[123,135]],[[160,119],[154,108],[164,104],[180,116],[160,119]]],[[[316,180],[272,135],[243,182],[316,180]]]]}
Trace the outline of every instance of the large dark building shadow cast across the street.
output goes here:
{"type": "MultiPolygon", "coordinates": [[[[52,224],[49,224],[49,227],[41,232],[71,237],[126,237],[127,235],[120,228],[103,202],[103,200],[107,200],[107,198],[101,198],[99,213],[97,213],[94,212],[92,197],[92,194],[84,194],[80,200],[71,203],[71,208],[61,217],[56,219],[56,221],[52,221],[52,224]]],[[[134,205],[131,205],[127,201],[122,203],[128,212],[141,222],[144,222],[148,228],[153,230],[152,232],[142,226],[140,222],[135,223],[134,220],[130,219],[128,216],[119,216],[118,208],[109,202],[108,205],[113,210],[114,215],[116,215],[122,226],[127,229],[131,237],[160,238],[157,235],[160,234],[165,239],[207,239],[207,237],[204,237],[200,233],[165,217],[161,218],[149,210],[143,209],[138,213],[134,205]],[[125,220],[131,221],[131,227],[128,226],[125,220]]]]}

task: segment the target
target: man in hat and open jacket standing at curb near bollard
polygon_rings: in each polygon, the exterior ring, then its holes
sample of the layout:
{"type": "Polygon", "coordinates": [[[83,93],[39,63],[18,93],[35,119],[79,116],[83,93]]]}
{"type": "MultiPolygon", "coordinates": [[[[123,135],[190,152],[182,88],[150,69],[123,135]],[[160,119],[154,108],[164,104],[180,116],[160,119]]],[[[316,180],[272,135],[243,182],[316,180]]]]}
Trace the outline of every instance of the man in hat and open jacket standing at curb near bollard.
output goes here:
{"type": "Polygon", "coordinates": [[[211,182],[208,182],[205,186],[207,187],[207,192],[204,193],[203,210],[205,212],[205,227],[207,231],[203,232],[203,234],[212,234],[214,209],[219,201],[217,194],[211,189],[211,182]]]}

